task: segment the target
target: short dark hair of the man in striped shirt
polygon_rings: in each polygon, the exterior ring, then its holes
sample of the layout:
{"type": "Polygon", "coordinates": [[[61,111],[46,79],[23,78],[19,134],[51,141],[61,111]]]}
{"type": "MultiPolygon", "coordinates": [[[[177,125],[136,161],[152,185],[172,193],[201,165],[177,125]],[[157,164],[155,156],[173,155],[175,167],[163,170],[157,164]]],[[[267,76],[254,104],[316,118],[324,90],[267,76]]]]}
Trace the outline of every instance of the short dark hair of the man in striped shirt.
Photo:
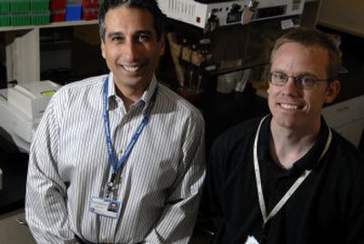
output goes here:
{"type": "Polygon", "coordinates": [[[100,37],[105,41],[105,15],[110,9],[114,9],[118,6],[126,6],[130,8],[146,9],[153,15],[153,25],[157,33],[157,39],[165,32],[165,18],[166,16],[162,13],[157,5],[156,0],[103,0],[100,5],[100,11],[98,14],[98,24],[100,37]]]}

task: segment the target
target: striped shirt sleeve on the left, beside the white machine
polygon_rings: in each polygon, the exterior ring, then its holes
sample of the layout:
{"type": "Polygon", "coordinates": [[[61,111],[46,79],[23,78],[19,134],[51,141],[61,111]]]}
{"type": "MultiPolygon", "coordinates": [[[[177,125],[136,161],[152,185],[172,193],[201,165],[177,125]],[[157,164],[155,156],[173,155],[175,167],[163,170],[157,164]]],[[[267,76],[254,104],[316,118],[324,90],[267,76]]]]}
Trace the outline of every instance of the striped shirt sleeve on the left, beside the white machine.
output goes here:
{"type": "Polygon", "coordinates": [[[52,99],[30,148],[25,218],[37,243],[76,243],[68,228],[66,184],[57,172],[59,127],[55,111],[52,99]]]}

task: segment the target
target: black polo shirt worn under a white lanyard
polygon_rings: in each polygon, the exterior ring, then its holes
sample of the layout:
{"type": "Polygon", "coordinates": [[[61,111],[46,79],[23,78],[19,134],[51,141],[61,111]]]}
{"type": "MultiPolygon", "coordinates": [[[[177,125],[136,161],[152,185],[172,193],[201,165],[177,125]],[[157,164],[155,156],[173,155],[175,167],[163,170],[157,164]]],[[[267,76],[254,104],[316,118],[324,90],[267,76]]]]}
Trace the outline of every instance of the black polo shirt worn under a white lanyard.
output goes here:
{"type": "Polygon", "coordinates": [[[216,243],[364,243],[364,160],[357,148],[325,121],[308,153],[292,168],[280,168],[269,153],[268,117],[258,137],[258,164],[269,213],[306,169],[312,170],[277,215],[263,228],[253,163],[253,143],[261,118],[229,129],[215,141],[207,166],[203,212],[221,217],[216,243]]]}

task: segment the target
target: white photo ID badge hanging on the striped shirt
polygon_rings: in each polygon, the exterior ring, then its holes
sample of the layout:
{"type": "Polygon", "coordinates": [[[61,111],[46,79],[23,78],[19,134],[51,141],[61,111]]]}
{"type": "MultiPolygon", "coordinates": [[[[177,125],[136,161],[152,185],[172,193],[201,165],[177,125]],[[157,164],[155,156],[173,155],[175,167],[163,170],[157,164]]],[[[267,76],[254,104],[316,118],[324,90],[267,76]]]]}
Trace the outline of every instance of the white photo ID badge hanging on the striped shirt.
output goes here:
{"type": "Polygon", "coordinates": [[[105,216],[107,218],[116,219],[120,212],[120,202],[107,198],[90,198],[88,210],[91,213],[105,216]]]}

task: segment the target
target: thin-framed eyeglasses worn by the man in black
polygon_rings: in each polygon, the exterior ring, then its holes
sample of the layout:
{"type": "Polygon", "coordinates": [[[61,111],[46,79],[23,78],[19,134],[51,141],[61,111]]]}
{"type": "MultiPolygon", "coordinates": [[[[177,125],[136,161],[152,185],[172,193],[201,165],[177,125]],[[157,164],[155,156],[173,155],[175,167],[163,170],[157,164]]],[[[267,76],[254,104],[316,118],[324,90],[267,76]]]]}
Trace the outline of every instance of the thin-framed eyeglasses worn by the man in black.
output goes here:
{"type": "Polygon", "coordinates": [[[303,89],[310,89],[318,85],[319,81],[331,81],[332,79],[318,79],[315,76],[300,75],[288,76],[282,72],[272,72],[269,74],[269,83],[275,86],[285,86],[288,78],[291,77],[296,86],[303,89]]]}

